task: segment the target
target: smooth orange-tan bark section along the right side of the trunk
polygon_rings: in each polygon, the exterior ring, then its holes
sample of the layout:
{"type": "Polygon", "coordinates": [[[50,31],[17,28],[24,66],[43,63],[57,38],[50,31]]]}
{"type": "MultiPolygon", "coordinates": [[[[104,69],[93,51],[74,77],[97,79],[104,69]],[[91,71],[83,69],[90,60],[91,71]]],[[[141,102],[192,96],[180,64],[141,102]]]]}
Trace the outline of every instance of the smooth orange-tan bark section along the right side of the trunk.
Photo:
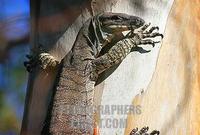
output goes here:
{"type": "Polygon", "coordinates": [[[142,115],[129,116],[127,134],[142,126],[161,135],[200,134],[199,5],[174,2],[152,81],[133,101],[141,104],[142,115]]]}

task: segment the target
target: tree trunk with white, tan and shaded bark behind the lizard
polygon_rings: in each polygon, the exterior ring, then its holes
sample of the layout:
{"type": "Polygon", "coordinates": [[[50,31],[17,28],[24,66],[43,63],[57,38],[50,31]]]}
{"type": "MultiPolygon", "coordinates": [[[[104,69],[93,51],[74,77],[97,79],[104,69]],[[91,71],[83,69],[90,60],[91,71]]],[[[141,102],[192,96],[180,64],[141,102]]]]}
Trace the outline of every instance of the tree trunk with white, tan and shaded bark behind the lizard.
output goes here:
{"type": "MultiPolygon", "coordinates": [[[[91,5],[94,14],[110,11],[136,15],[146,22],[151,22],[152,25],[159,26],[160,32],[164,33],[172,3],[173,0],[96,0],[92,4],[87,0],[31,0],[32,48],[37,49],[38,45],[42,44],[47,52],[61,60],[71,49],[82,24],[91,17],[91,5]]],[[[196,4],[199,3],[196,2],[196,4]]],[[[196,106],[192,107],[192,105],[194,102],[197,105],[198,102],[194,98],[194,94],[199,96],[197,88],[194,88],[196,91],[193,93],[188,92],[189,89],[198,85],[193,86],[188,83],[196,77],[190,76],[194,71],[197,72],[196,67],[187,67],[195,65],[197,58],[192,61],[192,49],[188,46],[190,43],[183,42],[187,39],[187,30],[193,29],[189,25],[189,23],[193,23],[192,19],[188,16],[192,15],[193,12],[197,13],[191,5],[191,2],[186,2],[186,0],[176,0],[175,5],[173,5],[170,14],[172,22],[168,21],[158,62],[161,45],[153,49],[145,47],[145,49],[152,51],[146,54],[133,52],[111,76],[108,78],[105,77],[106,74],[102,76],[102,80],[105,80],[95,88],[97,105],[131,105],[135,96],[145,91],[141,97],[138,95],[133,102],[134,105],[141,106],[142,114],[128,116],[126,129],[100,127],[102,135],[129,134],[133,128],[143,126],[160,130],[161,134],[187,135],[193,134],[191,133],[193,128],[198,127],[198,124],[194,124],[191,128],[191,125],[186,123],[186,121],[193,122],[194,117],[191,116],[194,112],[192,110],[196,106]],[[180,13],[182,10],[184,12],[180,13]],[[188,22],[184,22],[184,20],[188,22]],[[177,29],[176,27],[179,25],[181,27],[177,29]],[[185,26],[187,27],[185,28],[185,26]],[[174,33],[179,34],[179,36],[175,36],[177,39],[174,37],[174,33]],[[180,40],[183,38],[185,40],[180,40]],[[180,46],[181,43],[184,43],[184,46],[180,46]],[[188,60],[192,64],[188,64],[188,60]],[[154,77],[152,78],[153,73],[154,77]],[[190,108],[192,109],[190,110],[190,108]],[[191,114],[187,113],[188,110],[191,111],[191,114]],[[178,126],[179,124],[182,126],[178,126]],[[172,125],[173,128],[169,129],[169,126],[172,125]]],[[[192,35],[193,31],[189,30],[189,34],[192,35]]],[[[195,48],[197,43],[193,41],[191,45],[195,48]]],[[[22,135],[41,133],[56,72],[56,69],[42,71],[38,68],[29,75],[22,135]]],[[[195,116],[197,115],[195,114],[195,116]]],[[[126,118],[127,115],[97,115],[99,122],[100,119],[119,120],[126,118]]],[[[198,133],[199,131],[197,131],[198,133]]]]}

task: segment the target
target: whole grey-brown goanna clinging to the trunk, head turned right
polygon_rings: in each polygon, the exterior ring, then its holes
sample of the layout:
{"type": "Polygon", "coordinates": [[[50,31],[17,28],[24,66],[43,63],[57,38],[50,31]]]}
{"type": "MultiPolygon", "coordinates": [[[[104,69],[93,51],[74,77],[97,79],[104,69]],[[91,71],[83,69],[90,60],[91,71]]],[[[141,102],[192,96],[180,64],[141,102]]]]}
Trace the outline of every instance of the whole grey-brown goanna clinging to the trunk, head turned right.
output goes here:
{"type": "Polygon", "coordinates": [[[103,13],[82,26],[71,51],[60,63],[45,52],[29,56],[30,61],[25,63],[28,70],[37,63],[43,69],[60,65],[49,112],[49,133],[92,135],[94,118],[88,110],[93,106],[98,75],[122,62],[138,45],[154,46],[159,41],[152,38],[158,36],[163,37],[158,27],[150,27],[150,23],[137,16],[103,13]],[[130,32],[123,34],[125,31],[130,32]],[[73,113],[74,107],[81,111],[73,113]]]}

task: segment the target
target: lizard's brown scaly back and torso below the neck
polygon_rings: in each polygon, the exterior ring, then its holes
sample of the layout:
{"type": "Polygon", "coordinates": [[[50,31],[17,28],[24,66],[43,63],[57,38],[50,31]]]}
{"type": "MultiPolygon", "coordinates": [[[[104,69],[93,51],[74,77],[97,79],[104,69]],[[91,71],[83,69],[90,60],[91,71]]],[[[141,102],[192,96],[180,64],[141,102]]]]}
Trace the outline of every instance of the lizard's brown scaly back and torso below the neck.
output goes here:
{"type": "Polygon", "coordinates": [[[72,51],[62,61],[58,85],[54,96],[50,133],[92,134],[93,115],[84,110],[93,105],[95,79],[92,78],[91,60],[94,59],[86,38],[80,34],[72,51]],[[79,40],[81,39],[81,40],[79,40]],[[66,108],[82,108],[80,113],[66,113],[66,108]],[[65,109],[64,109],[65,108],[65,109]],[[79,127],[81,124],[83,127],[79,127]],[[82,123],[81,123],[82,122],[82,123]]]}

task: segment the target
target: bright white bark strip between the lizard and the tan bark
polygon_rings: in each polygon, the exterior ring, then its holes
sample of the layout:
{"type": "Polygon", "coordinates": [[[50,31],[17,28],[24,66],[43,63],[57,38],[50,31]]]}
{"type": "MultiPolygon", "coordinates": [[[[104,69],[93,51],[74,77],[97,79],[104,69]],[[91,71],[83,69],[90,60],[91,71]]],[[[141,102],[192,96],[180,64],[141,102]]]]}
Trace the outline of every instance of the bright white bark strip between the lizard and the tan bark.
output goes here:
{"type": "MultiPolygon", "coordinates": [[[[111,11],[140,16],[146,22],[151,22],[153,26],[159,26],[160,32],[164,33],[172,3],[173,0],[138,0],[134,2],[132,0],[119,0],[111,11]]],[[[158,44],[154,48],[151,46],[144,48],[152,51],[145,54],[133,52],[128,55],[117,70],[101,84],[104,85],[101,105],[109,105],[110,107],[112,105],[130,105],[136,94],[146,90],[156,66],[160,45],[158,44]]],[[[117,115],[116,113],[101,116],[103,121],[114,119],[120,121],[120,119],[126,118],[127,115],[117,115]]],[[[101,128],[100,133],[102,135],[124,134],[124,128],[119,128],[120,125],[117,128],[112,126],[111,128],[109,126],[109,128],[101,128]]]]}

